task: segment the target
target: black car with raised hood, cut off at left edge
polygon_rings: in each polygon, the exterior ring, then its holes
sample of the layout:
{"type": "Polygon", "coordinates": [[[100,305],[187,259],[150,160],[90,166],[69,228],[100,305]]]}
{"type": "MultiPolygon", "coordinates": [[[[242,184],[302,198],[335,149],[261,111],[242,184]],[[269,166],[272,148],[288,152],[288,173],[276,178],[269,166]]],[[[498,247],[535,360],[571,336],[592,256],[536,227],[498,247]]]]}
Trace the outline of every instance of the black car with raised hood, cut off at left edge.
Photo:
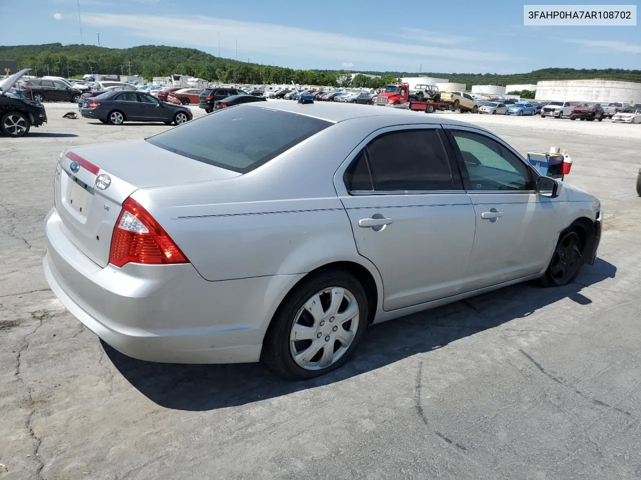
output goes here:
{"type": "Polygon", "coordinates": [[[12,137],[29,133],[31,127],[40,127],[47,122],[47,113],[40,102],[29,100],[18,88],[17,81],[31,68],[0,81],[0,131],[12,137]]]}

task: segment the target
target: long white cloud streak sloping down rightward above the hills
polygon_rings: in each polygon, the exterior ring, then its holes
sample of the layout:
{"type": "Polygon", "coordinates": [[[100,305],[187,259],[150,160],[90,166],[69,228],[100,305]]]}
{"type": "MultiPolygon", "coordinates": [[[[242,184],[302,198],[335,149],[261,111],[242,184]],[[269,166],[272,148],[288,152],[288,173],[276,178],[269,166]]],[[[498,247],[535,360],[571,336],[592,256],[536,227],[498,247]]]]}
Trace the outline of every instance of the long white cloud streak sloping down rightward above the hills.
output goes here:
{"type": "Polygon", "coordinates": [[[487,65],[487,61],[510,60],[502,52],[426,46],[412,42],[383,42],[339,33],[204,16],[177,18],[161,15],[85,13],[83,24],[124,29],[133,35],[157,40],[165,45],[188,44],[211,49],[217,49],[220,32],[221,47],[226,50],[235,50],[235,42],[238,39],[238,48],[245,52],[286,52],[290,58],[312,58],[317,63],[324,61],[326,64],[335,64],[341,61],[341,58],[358,58],[358,63],[363,68],[366,65],[385,64],[390,68],[405,69],[408,65],[418,66],[420,62],[425,65],[430,61],[434,70],[454,72],[461,68],[475,68],[476,71],[480,71],[494,68],[487,65]],[[464,64],[461,63],[462,60],[465,61],[464,64]]]}

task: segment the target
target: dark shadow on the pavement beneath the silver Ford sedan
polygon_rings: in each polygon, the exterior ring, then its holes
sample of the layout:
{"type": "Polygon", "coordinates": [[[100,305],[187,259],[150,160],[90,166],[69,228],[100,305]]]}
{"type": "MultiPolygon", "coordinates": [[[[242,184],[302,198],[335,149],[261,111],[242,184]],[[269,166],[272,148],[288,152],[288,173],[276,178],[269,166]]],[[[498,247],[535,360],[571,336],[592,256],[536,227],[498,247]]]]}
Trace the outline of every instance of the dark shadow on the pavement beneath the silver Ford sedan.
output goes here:
{"type": "Polygon", "coordinates": [[[522,319],[562,298],[587,305],[591,300],[581,294],[581,289],[614,278],[616,271],[612,264],[597,259],[594,266],[583,269],[577,282],[564,287],[542,289],[530,284],[512,285],[428,312],[376,324],[366,332],[358,351],[347,364],[308,381],[281,380],[263,364],[144,362],[101,343],[122,376],[156,404],[176,410],[213,410],[345,380],[417,353],[442,348],[513,319],[522,319]]]}

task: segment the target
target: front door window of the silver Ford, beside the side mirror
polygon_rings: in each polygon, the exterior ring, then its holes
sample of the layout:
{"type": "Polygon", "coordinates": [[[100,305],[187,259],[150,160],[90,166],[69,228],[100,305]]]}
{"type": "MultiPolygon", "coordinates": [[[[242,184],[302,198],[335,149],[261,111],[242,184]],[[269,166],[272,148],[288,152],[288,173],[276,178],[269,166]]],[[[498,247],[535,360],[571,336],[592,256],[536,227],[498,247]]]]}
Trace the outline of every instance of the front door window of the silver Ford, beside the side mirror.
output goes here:
{"type": "Polygon", "coordinates": [[[470,179],[480,191],[528,191],[533,189],[529,168],[510,150],[488,136],[452,131],[470,179]]]}

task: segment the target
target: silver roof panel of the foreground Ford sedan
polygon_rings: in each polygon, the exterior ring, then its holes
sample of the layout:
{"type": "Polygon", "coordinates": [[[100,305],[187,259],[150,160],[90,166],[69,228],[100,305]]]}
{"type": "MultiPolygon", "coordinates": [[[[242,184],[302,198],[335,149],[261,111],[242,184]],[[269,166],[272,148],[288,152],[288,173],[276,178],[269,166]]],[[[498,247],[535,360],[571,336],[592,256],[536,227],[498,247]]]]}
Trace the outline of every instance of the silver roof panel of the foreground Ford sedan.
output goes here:
{"type": "Polygon", "coordinates": [[[280,111],[289,111],[292,113],[299,113],[301,115],[313,116],[320,120],[327,120],[328,122],[338,123],[345,120],[352,120],[354,118],[366,118],[372,116],[385,116],[390,118],[391,122],[398,120],[407,120],[412,124],[441,124],[441,125],[462,125],[466,127],[473,127],[479,130],[485,130],[477,125],[459,122],[458,120],[450,120],[442,116],[419,115],[419,113],[405,110],[401,108],[392,107],[378,107],[358,104],[344,104],[340,102],[314,102],[313,104],[300,104],[298,102],[254,102],[246,104],[252,108],[271,108],[280,111]],[[403,117],[403,118],[399,118],[403,117]]]}

